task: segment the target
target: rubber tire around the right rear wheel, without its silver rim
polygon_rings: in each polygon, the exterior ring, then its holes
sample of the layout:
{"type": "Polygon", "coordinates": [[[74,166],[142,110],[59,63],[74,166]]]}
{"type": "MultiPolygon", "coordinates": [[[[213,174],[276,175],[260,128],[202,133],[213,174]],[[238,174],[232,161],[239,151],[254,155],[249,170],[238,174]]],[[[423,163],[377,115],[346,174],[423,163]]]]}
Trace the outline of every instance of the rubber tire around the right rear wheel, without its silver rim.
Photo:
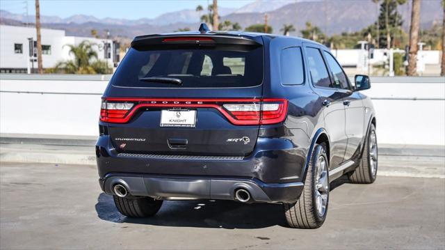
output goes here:
{"type": "Polygon", "coordinates": [[[319,228],[323,225],[326,219],[327,207],[329,204],[329,164],[327,155],[325,152],[325,147],[316,144],[312,155],[310,157],[309,166],[307,168],[305,186],[303,188],[302,194],[296,203],[284,203],[284,213],[286,214],[286,221],[292,228],[319,228]],[[324,157],[325,159],[325,169],[327,178],[327,200],[325,203],[325,210],[323,215],[318,214],[316,208],[316,166],[319,157],[324,157]]]}

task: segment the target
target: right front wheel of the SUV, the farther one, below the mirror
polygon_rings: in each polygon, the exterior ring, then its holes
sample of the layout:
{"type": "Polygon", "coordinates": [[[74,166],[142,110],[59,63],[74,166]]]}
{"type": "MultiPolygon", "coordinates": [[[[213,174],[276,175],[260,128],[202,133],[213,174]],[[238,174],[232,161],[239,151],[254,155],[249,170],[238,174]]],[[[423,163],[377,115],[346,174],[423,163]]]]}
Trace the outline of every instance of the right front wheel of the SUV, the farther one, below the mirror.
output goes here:
{"type": "Polygon", "coordinates": [[[375,126],[371,124],[366,136],[362,158],[359,166],[349,175],[349,180],[355,184],[371,184],[377,178],[378,146],[375,126]]]}

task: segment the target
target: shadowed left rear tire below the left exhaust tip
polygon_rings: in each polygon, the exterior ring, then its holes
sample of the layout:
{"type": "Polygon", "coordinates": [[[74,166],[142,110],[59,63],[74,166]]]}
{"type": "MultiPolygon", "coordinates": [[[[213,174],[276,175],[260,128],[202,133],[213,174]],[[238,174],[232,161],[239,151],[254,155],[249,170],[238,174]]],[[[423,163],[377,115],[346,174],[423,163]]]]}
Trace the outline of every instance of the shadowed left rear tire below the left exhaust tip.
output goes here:
{"type": "Polygon", "coordinates": [[[127,217],[150,217],[161,208],[162,202],[150,197],[121,198],[113,195],[114,203],[121,214],[127,217]]]}

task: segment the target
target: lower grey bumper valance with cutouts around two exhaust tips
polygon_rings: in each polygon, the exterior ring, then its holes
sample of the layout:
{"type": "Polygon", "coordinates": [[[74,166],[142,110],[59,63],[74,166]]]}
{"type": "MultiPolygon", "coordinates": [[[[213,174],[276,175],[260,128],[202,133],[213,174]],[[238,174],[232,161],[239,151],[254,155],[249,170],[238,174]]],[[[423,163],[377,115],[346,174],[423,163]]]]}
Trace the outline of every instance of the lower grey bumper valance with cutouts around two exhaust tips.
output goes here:
{"type": "Polygon", "coordinates": [[[127,187],[132,196],[153,198],[210,198],[236,200],[237,189],[250,193],[251,202],[293,202],[302,192],[302,182],[266,184],[259,180],[197,176],[159,176],[126,173],[108,174],[99,179],[107,194],[117,184],[127,187]]]}

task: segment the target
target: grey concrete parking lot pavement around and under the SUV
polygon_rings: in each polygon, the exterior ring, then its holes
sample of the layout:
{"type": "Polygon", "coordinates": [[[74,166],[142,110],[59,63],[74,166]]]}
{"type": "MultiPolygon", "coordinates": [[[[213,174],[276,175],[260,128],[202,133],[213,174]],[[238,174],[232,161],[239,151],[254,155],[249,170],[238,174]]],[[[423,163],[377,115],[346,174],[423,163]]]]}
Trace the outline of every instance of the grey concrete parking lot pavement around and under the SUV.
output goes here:
{"type": "Polygon", "coordinates": [[[379,176],[332,184],[322,228],[286,227],[282,207],[166,201],[128,219],[95,166],[1,162],[1,249],[444,249],[445,179],[379,176]]]}

